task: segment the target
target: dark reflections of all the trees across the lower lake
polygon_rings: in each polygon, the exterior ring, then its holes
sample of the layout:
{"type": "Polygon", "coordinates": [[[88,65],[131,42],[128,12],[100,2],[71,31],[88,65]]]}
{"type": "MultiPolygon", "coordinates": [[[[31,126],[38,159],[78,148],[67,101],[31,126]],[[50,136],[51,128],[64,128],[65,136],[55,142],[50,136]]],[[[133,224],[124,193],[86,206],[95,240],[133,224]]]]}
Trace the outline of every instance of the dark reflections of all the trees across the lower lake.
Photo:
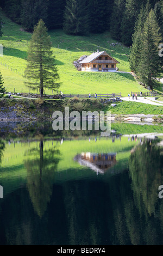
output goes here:
{"type": "Polygon", "coordinates": [[[108,180],[104,175],[76,179],[74,174],[74,180],[55,184],[59,152],[55,148],[46,151],[40,139],[39,148],[30,153],[33,160],[25,162],[27,188],[37,214],[26,190],[15,191],[4,205],[8,215],[3,216],[3,231],[8,243],[163,244],[163,200],[158,198],[163,155],[156,142],[137,145],[129,157],[129,168],[108,180]],[[15,206],[17,198],[20,201],[15,206]]]}

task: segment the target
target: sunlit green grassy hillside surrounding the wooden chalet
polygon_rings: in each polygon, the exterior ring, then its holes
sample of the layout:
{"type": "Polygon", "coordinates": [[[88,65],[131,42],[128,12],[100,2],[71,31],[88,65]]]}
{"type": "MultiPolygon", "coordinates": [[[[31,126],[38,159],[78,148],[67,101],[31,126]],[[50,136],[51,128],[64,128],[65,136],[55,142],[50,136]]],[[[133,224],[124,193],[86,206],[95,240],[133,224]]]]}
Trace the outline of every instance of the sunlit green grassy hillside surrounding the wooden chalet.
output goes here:
{"type": "MultiPolygon", "coordinates": [[[[5,87],[8,91],[29,92],[23,84],[22,77],[26,66],[27,49],[31,33],[24,32],[23,29],[14,22],[11,22],[3,15],[3,36],[0,43],[4,47],[4,56],[0,57],[0,70],[4,77],[5,87]],[[4,66],[5,65],[5,66],[4,66]],[[12,70],[11,70],[12,69],[12,70]],[[17,74],[16,74],[17,70],[17,74]]],[[[100,51],[108,52],[116,58],[120,64],[120,71],[130,71],[127,55],[129,48],[123,45],[110,46],[116,42],[110,38],[109,32],[103,34],[90,34],[89,36],[66,35],[61,30],[49,31],[52,38],[53,51],[58,65],[60,90],[63,93],[120,93],[126,96],[129,92],[145,92],[134,77],[125,73],[98,73],[78,71],[73,61],[84,54],[91,54],[99,48],[100,51]]],[[[47,94],[51,94],[48,90],[47,94]]]]}

